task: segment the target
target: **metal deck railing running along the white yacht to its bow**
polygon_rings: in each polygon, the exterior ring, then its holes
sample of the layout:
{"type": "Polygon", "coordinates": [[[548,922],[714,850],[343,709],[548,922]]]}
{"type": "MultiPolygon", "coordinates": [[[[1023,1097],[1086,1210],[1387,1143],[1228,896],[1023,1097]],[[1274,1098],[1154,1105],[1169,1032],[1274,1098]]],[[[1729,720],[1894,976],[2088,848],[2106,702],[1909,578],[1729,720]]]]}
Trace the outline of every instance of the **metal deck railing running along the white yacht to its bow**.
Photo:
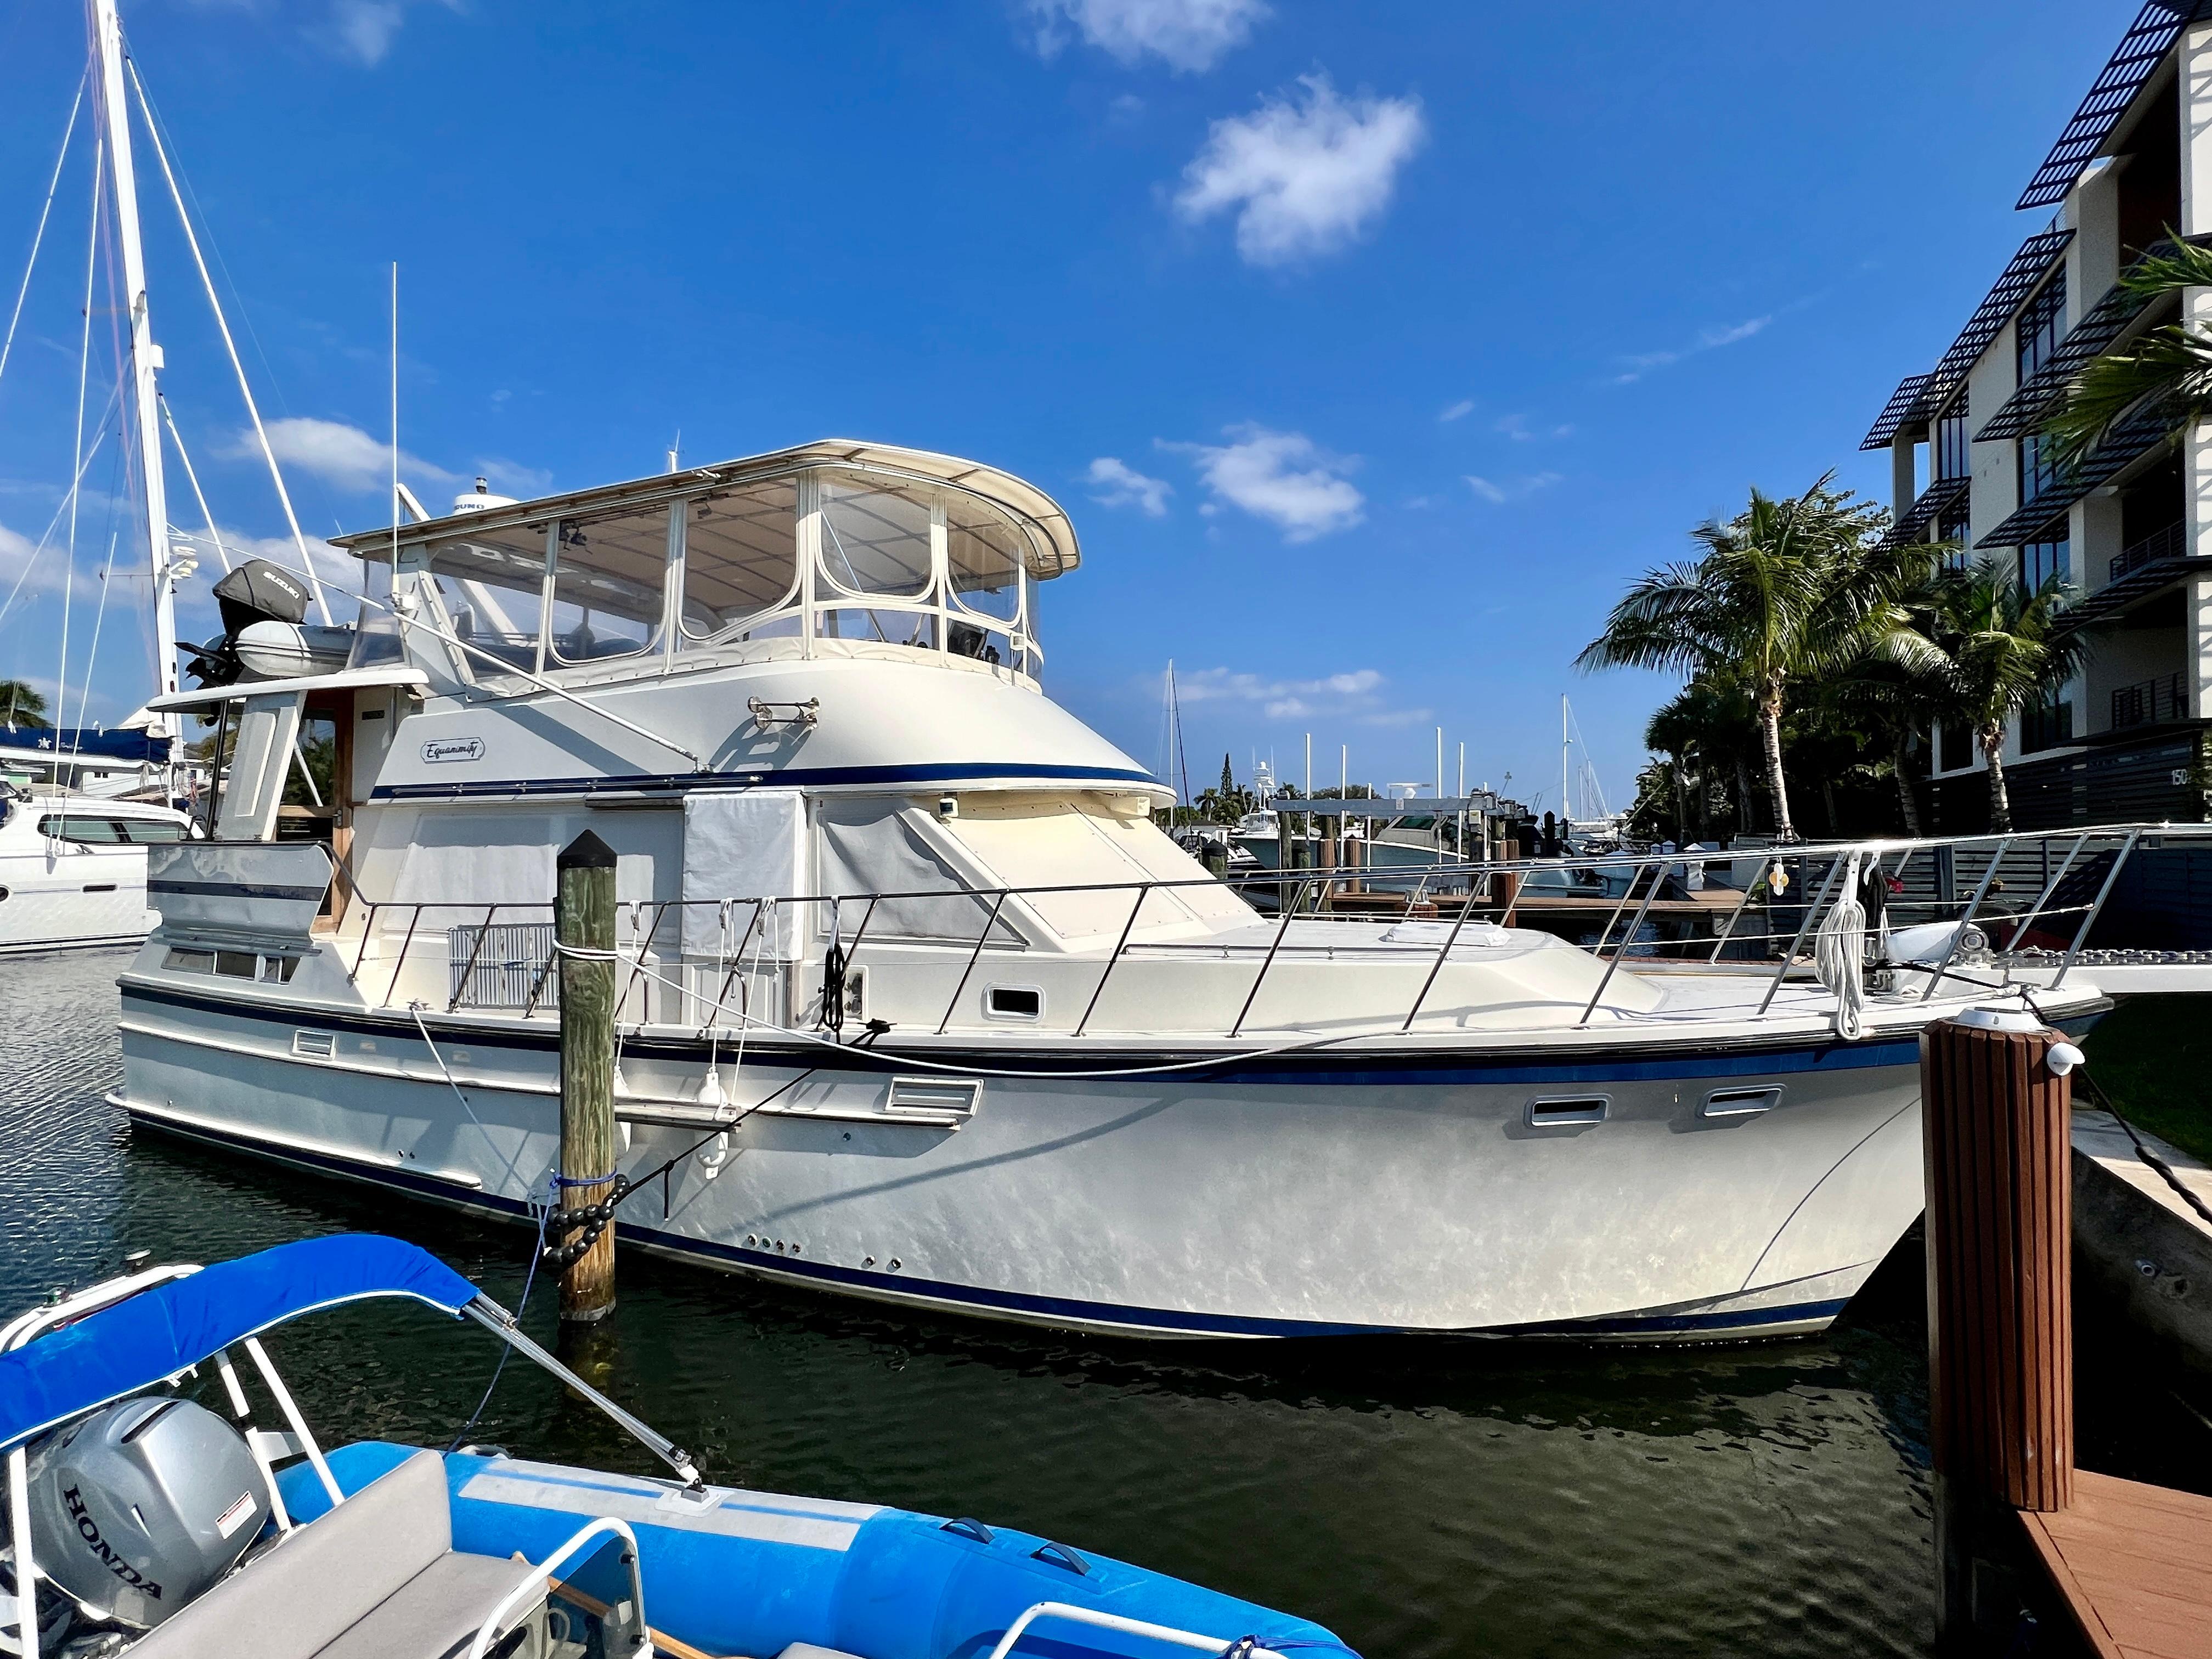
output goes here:
{"type": "MultiPolygon", "coordinates": [[[[787,1015],[794,1024],[801,1018],[816,1018],[818,1029],[841,1035],[847,1020],[847,973],[865,945],[885,942],[880,931],[872,938],[872,927],[885,907],[894,907],[896,914],[900,902],[942,907],[967,900],[973,916],[980,916],[973,933],[896,933],[905,945],[960,951],[962,967],[933,1026],[929,1020],[909,1024],[942,1035],[960,1013],[960,1000],[993,942],[1006,951],[1031,949],[1022,931],[1011,925],[1011,916],[1026,911],[1033,925],[1048,929],[1035,902],[1084,894],[1126,894],[1128,909],[1104,958],[1091,949],[1066,951],[1071,960],[1099,964],[1071,1033],[1077,1037],[1088,1031],[1108,984],[1133,953],[1190,947],[1259,962],[1234,1020],[1219,1033],[1232,1040],[1252,1024],[1261,991],[1285,956],[1305,958],[1314,951],[1363,945],[1389,947],[1394,956],[1402,951],[1405,958],[1425,964],[1420,987],[1402,1015],[1378,1015],[1371,1024],[1378,1035],[1407,1033],[1429,1006],[1467,929],[1498,920],[1559,931],[1606,962],[1604,975],[1579,1009],[1577,1024],[1588,1024],[1597,1015],[1624,958],[1646,958],[1648,967],[1663,964],[1668,971],[1765,975],[1756,1002],[1756,1015],[1765,1018],[1787,975],[1818,958],[1812,945],[1849,922],[1847,914],[1838,914],[1849,902],[1860,905],[1869,922],[1871,914],[1880,911],[1882,922],[1849,936],[1856,945],[1854,971],[1889,975],[1887,989],[1893,995],[1918,991],[1918,1000],[1927,1002],[1942,987],[2004,987],[2026,969],[2037,971],[2037,982],[2051,971],[2048,984],[2064,984],[2106,914],[2121,869],[2146,836],[2161,843],[2212,845],[2212,825],[2099,825],[2008,836],[1792,843],[1730,852],[1617,852],[1551,860],[1447,858],[1396,872],[1274,869],[1126,883],[624,900],[617,907],[624,958],[617,1006],[628,1009],[633,993],[641,993],[639,1015],[644,1015],[655,987],[672,987],[681,993],[679,1018],[664,1024],[699,1024],[701,1031],[712,1031],[726,1024],[734,991],[741,1022],[779,1024],[754,1020],[752,982],[765,971],[796,991],[805,971],[821,969],[818,1004],[810,1002],[805,1015],[799,1009],[790,1009],[787,1015]],[[1854,860],[1856,883],[1845,883],[1854,860]],[[1705,878],[1703,898],[1692,885],[1694,874],[1705,878]],[[1376,900],[1371,889],[1378,878],[1398,889],[1387,900],[1389,914],[1383,916],[1371,911],[1376,900]],[[2033,894],[2026,907],[2017,905],[2015,885],[2020,894],[2033,894]],[[1230,942],[1219,933],[1139,938],[1139,925],[1155,896],[1190,889],[1219,894],[1223,887],[1272,902],[1274,925],[1263,936],[1230,942]],[[1358,891],[1360,887],[1369,891],[1358,891]],[[1345,916],[1334,909],[1345,900],[1360,902],[1360,914],[1345,916]],[[684,916],[701,907],[719,914],[717,949],[710,956],[681,949],[684,916]],[[763,920],[785,914],[796,914],[803,922],[796,942],[781,938],[781,920],[763,920]],[[743,927],[737,925],[739,918],[743,927]],[[1420,938],[1394,933],[1409,920],[1433,927],[1436,933],[1425,931],[1420,938]],[[1332,927],[1323,933],[1314,929],[1316,922],[1332,927]],[[770,940],[770,927],[779,929],[779,938],[770,940]],[[1347,927],[1371,929],[1374,938],[1347,936],[1343,931],[1347,927]],[[1885,938],[1893,940],[1887,953],[1885,938]],[[1966,973],[1960,958],[2002,969],[2002,978],[1966,973]],[[672,973],[684,975],[681,987],[672,973]],[[686,1018],[697,1009],[703,1009],[701,1020],[686,1018]]],[[[447,1013],[462,1006],[502,1006],[529,1018],[549,1011],[557,998],[551,902],[356,900],[356,905],[363,905],[356,911],[361,936],[349,971],[372,1002],[394,1004],[418,933],[445,938],[447,1013]],[[389,942],[394,933],[400,940],[398,951],[389,958],[378,951],[372,960],[372,945],[389,942]],[[389,971],[383,973],[383,984],[374,987],[385,960],[389,971]]],[[[1186,911],[1172,920],[1188,916],[1186,911]]],[[[1155,918],[1155,927],[1161,920],[1170,918],[1155,918]]],[[[1834,953],[1820,973],[1829,975],[1832,967],[1834,953]]],[[[1885,989],[1885,982],[1876,989],[1885,989]]],[[[812,987],[807,995],[812,998],[812,987]]],[[[639,1018],[637,1024],[646,1020],[639,1018]]]]}

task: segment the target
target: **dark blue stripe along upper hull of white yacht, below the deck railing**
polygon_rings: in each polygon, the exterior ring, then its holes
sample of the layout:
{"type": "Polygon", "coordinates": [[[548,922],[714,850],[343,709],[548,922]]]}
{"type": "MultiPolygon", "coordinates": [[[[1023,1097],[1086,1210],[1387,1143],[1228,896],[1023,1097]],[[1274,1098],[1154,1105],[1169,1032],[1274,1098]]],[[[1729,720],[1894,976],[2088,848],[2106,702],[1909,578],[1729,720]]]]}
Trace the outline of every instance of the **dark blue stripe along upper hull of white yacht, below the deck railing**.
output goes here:
{"type": "MultiPolygon", "coordinates": [[[[248,1002],[243,998],[221,998],[206,995],[197,991],[181,991],[168,987],[153,987],[131,980],[122,987],[124,1009],[131,1004],[168,1004],[177,1009],[195,1009],[204,1013],[221,1013],[239,1020],[259,1020],[268,1024],[281,1024],[288,1029],[314,1029],[314,1031],[347,1031],[372,1037],[398,1035],[409,1042],[420,1042],[420,1033],[414,1022],[400,1013],[363,1013],[345,1009],[325,1009],[319,1004],[270,1004],[270,1002],[248,1002]]],[[[509,1048],[515,1053],[557,1053],[560,1051],[560,1029],[551,1022],[542,1031],[524,1031],[511,1024],[471,1024],[453,1018],[434,1018],[434,1031],[440,1037],[451,1037],[453,1042],[467,1042],[480,1048],[509,1048]]],[[[181,1033],[179,1033],[181,1035],[181,1033]]],[[[1674,1044],[1681,1042],[1679,1031],[1652,1033],[1648,1044],[1637,1044],[1630,1053],[1650,1051],[1661,1046],[1666,1040],[1674,1044]]],[[[1787,1044],[1787,1040],[1783,1040],[1787,1044]]],[[[728,1044],[723,1044],[728,1046],[728,1044]]],[[[703,1062],[708,1057],[710,1042],[706,1037],[650,1037],[650,1035],[624,1035],[622,1051],[650,1060],[677,1060],[703,1062]]],[[[1009,1064],[1020,1064],[1022,1068],[1048,1073],[1048,1071],[1099,1071],[1113,1066],[1157,1066],[1190,1062],[1203,1057],[1201,1048],[1108,1048],[1099,1046],[1093,1051],[1066,1051],[1066,1048],[956,1048],[956,1046],[918,1046],[914,1055],[947,1064],[947,1066],[980,1066],[1000,1068],[1009,1064]]],[[[841,1071],[867,1071],[867,1073],[896,1073],[907,1064],[905,1055],[891,1046],[856,1048],[845,1046],[832,1051],[807,1044],[801,1048],[772,1046],[768,1040],[754,1037],[745,1048],[748,1060],[759,1060],[763,1066],[781,1066],[792,1071],[821,1068],[825,1064],[836,1064],[841,1071]]],[[[1243,1062],[1237,1053],[1223,1053],[1219,1066],[1194,1071],[1188,1082],[1192,1084],[1265,1084],[1265,1086],[1303,1086],[1303,1084],[1327,1084],[1338,1088],[1387,1088],[1394,1084],[1420,1082],[1427,1086],[1436,1084],[1601,1084],[1601,1082],[1663,1082],[1672,1077],[1743,1077],[1743,1075],[1772,1075],[1772,1073],[1814,1073],[1814,1071],[1865,1071],[1869,1066],[1918,1066],[1920,1064],[1920,1037],[1896,1037],[1876,1040],[1858,1044],[1840,1044],[1832,1040],[1816,1040],[1807,1044],[1803,1037],[1794,1046],[1756,1046],[1750,1042],[1708,1046],[1683,1051],[1679,1046],[1670,1048],[1663,1057],[1650,1060],[1628,1060],[1615,1048],[1610,1055],[1606,1051],[1509,1051],[1495,1057],[1469,1055],[1464,1048],[1436,1053],[1436,1051],[1411,1051],[1402,1055],[1378,1055],[1374,1051],[1365,1053],[1329,1053],[1314,1051],[1307,1055],[1270,1055],[1261,1062],[1243,1062]]],[[[482,1082],[482,1079],[480,1079],[482,1082]]],[[[1082,1077],[1077,1077],[1082,1082],[1082,1077]]],[[[1093,1079],[1099,1082],[1099,1079],[1093,1079]]],[[[1110,1079],[1106,1079],[1110,1082],[1110,1079]]],[[[498,1084],[484,1084],[498,1086],[498,1084]]]]}

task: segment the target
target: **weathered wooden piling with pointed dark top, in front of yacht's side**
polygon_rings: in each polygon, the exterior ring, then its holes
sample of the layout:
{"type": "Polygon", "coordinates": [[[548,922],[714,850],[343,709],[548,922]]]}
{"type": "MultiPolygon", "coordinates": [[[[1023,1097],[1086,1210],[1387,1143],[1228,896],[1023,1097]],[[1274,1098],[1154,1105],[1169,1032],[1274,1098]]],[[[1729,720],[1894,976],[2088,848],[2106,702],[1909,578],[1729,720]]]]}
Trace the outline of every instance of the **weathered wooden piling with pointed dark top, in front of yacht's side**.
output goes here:
{"type": "MultiPolygon", "coordinates": [[[[562,849],[555,869],[560,1208],[582,1210],[604,1203],[615,1179],[615,849],[586,830],[562,849]]],[[[591,1250],[562,1270],[560,1316],[591,1323],[613,1307],[615,1223],[608,1221],[591,1250]]]]}

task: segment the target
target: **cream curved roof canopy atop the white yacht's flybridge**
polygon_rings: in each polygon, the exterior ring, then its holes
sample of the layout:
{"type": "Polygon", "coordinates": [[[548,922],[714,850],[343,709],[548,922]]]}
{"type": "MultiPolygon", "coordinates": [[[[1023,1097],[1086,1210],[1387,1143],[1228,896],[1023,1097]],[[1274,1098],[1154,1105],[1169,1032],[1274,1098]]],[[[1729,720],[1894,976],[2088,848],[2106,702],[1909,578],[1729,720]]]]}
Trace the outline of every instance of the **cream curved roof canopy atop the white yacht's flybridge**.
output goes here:
{"type": "MultiPolygon", "coordinates": [[[[1082,549],[1075,542],[1075,526],[1068,522],[1066,511],[1035,484],[1029,484],[1013,473],[1002,473],[998,467],[982,467],[973,460],[960,460],[958,456],[938,456],[929,449],[900,449],[896,445],[872,445],[856,438],[816,438],[810,445],[776,449],[768,456],[723,460],[712,467],[684,467],[672,473],[633,478],[626,484],[577,489],[566,495],[538,495],[535,500],[515,502],[511,507],[449,513],[445,518],[427,520],[425,524],[403,524],[400,535],[409,542],[418,542],[425,535],[438,535],[462,524],[471,531],[493,531],[502,524],[542,522],[546,518],[571,513],[593,513],[606,507],[635,507],[677,495],[692,495],[717,484],[743,484],[757,478],[803,471],[807,467],[838,467],[843,471],[945,484],[949,489],[982,495],[1006,513],[1013,513],[1033,531],[1029,538],[1031,546],[1026,564],[1029,575],[1037,582],[1066,575],[1082,564],[1082,549]]],[[[361,557],[380,557],[383,549],[392,544],[392,526],[387,524],[378,531],[354,531],[352,535],[334,535],[330,540],[332,546],[343,546],[361,557]]]]}

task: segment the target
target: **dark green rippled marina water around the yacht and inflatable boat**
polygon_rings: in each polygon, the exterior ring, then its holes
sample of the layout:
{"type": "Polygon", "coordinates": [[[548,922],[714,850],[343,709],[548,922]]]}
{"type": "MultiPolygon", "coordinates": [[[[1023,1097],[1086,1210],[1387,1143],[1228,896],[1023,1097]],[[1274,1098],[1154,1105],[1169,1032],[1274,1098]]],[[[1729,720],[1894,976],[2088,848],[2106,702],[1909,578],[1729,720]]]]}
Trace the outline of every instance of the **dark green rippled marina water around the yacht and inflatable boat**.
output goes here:
{"type": "MultiPolygon", "coordinates": [[[[524,1234],[135,1133],[126,958],[0,962],[0,1312],[150,1248],[414,1239],[493,1296],[524,1234]]],[[[546,1287],[542,1287],[544,1292],[546,1287]]],[[[553,1298],[529,1325],[553,1340],[553,1298]]],[[[445,1444],[498,1345],[416,1310],[270,1349],[325,1438],[445,1444]]],[[[2084,1329],[2084,1462],[2212,1489],[2212,1427],[2124,1334],[2084,1329]]],[[[927,1323],[626,1256],[615,1398],[710,1480],[978,1515],[1292,1608],[1385,1655],[1924,1652],[1920,1259],[1825,1338],[1703,1349],[1110,1345],[927,1323]]],[[[653,1473],[511,1365],[473,1438],[653,1473]]]]}

